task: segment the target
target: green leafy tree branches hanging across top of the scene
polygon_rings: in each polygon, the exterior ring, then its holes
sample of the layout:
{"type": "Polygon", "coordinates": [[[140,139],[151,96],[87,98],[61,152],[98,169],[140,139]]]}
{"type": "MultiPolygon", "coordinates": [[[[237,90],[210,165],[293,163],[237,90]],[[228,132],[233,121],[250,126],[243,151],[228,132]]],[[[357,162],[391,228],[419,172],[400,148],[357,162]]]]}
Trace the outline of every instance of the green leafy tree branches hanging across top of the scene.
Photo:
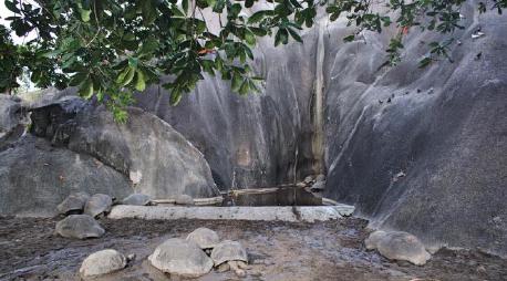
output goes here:
{"type": "MultiPolygon", "coordinates": [[[[38,87],[76,86],[81,96],[96,96],[122,122],[133,93],[161,83],[164,75],[173,77],[163,83],[172,104],[194,89],[204,72],[230,80],[240,95],[257,91],[258,77],[247,64],[257,38],[275,34],[275,45],[290,39],[301,42],[299,31],[313,25],[319,7],[331,21],[346,17],[358,33],[396,24],[400,32],[386,49],[389,61],[396,63],[410,28],[442,33],[462,29],[465,2],[390,0],[382,13],[370,0],[266,1],[251,13],[258,0],[4,0],[13,15],[4,19],[8,27],[0,24],[0,92],[18,87],[24,70],[38,87]],[[218,32],[210,32],[205,13],[219,19],[218,32]],[[12,33],[34,39],[14,44],[12,33]]],[[[501,13],[506,7],[507,0],[488,0],[478,9],[501,13]]],[[[354,34],[343,40],[354,41],[354,34]]],[[[433,54],[445,56],[448,45],[431,42],[432,55],[422,66],[435,59],[433,54]]]]}

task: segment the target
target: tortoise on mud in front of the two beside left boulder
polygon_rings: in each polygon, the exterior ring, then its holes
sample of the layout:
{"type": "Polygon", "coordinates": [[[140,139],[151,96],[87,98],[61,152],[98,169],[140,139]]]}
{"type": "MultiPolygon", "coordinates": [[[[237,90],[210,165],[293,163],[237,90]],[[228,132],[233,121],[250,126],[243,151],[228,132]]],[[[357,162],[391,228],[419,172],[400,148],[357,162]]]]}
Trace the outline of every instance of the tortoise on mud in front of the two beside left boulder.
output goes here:
{"type": "Polygon", "coordinates": [[[97,238],[105,233],[105,230],[91,216],[71,215],[56,222],[56,233],[66,238],[97,238]]]}

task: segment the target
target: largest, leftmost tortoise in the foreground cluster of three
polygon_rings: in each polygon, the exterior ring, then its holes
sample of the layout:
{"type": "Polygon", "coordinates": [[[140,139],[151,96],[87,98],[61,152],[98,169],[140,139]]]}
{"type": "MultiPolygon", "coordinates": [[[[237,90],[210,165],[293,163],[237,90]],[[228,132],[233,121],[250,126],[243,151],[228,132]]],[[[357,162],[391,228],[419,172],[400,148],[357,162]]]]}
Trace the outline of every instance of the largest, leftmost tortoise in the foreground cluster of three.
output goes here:
{"type": "Polygon", "coordinates": [[[193,241],[172,238],[148,257],[158,270],[185,278],[197,278],[213,269],[213,260],[193,241]]]}

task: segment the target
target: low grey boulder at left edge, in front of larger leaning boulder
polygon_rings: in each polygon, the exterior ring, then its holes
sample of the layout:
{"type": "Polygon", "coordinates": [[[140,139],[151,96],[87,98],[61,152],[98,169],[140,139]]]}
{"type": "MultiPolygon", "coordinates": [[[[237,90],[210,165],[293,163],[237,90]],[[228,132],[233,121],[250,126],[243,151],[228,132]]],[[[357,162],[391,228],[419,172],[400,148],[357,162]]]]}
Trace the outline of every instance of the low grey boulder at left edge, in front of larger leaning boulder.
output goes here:
{"type": "Polygon", "coordinates": [[[123,197],[127,178],[87,155],[32,135],[0,152],[0,214],[48,217],[70,194],[86,191],[123,197]]]}

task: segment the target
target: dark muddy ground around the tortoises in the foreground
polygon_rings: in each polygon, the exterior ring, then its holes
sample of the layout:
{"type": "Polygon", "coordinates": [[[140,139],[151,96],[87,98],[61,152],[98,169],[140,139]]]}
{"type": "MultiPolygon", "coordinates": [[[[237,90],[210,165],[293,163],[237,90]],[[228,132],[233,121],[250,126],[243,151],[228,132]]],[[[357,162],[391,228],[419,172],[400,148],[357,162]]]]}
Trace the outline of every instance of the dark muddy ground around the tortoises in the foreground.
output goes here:
{"type": "MultiPolygon", "coordinates": [[[[147,256],[167,238],[198,227],[239,240],[251,269],[244,280],[507,280],[507,260],[479,251],[439,250],[424,267],[390,262],[365,251],[368,222],[348,218],[317,223],[199,220],[101,220],[106,235],[72,240],[53,235],[56,219],[0,218],[0,280],[80,280],[83,259],[113,248],[136,259],[120,272],[94,280],[180,280],[157,271],[147,256]]],[[[198,280],[240,280],[232,272],[198,280]]]]}

